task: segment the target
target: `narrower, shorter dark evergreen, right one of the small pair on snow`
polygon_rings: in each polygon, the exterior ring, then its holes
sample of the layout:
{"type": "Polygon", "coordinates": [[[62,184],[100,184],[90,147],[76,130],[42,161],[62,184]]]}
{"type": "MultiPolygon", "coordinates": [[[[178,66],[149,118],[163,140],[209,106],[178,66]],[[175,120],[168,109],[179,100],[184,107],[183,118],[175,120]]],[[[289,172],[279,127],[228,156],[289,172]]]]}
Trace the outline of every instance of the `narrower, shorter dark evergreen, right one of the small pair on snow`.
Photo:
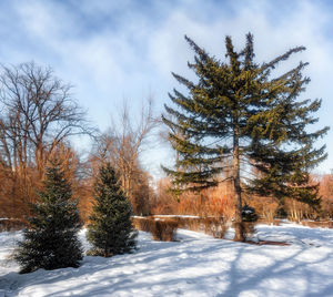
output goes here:
{"type": "Polygon", "coordinates": [[[90,254],[110,257],[135,248],[131,205],[121,191],[114,170],[108,163],[100,167],[94,184],[93,213],[88,226],[90,254]]]}

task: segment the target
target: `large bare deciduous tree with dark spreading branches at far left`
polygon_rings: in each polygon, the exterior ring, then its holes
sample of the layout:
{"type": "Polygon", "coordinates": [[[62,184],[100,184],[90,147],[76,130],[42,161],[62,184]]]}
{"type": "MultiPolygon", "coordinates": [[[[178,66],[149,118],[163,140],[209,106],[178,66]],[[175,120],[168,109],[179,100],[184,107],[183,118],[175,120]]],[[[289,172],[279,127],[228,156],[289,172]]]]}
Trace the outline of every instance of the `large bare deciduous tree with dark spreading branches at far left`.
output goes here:
{"type": "Polygon", "coordinates": [[[1,68],[0,162],[24,188],[20,195],[26,199],[31,196],[29,172],[41,180],[58,144],[71,135],[93,132],[71,89],[50,68],[33,62],[1,68]]]}

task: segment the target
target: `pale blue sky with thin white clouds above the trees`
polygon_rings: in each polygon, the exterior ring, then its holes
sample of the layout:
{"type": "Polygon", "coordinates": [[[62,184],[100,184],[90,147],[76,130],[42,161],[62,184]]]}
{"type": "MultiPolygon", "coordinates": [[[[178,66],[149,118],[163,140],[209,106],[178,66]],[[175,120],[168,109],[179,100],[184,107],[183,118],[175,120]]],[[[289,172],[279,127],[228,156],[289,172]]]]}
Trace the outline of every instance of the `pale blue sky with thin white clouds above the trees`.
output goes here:
{"type": "MultiPolygon", "coordinates": [[[[193,78],[186,66],[193,52],[184,34],[223,60],[225,35],[242,49],[251,32],[260,63],[306,47],[278,71],[310,62],[304,73],[311,83],[303,96],[322,99],[314,129],[333,127],[332,20],[330,0],[0,0],[0,63],[50,65],[74,86],[73,96],[104,131],[123,100],[135,114],[153,96],[160,114],[170,103],[168,92],[179,86],[171,72],[193,78]]],[[[329,157],[315,172],[329,173],[332,130],[321,144],[326,144],[329,157]]],[[[74,145],[89,150],[84,141],[74,145]]],[[[161,175],[160,164],[170,164],[172,153],[155,141],[142,160],[152,175],[161,175]]]]}

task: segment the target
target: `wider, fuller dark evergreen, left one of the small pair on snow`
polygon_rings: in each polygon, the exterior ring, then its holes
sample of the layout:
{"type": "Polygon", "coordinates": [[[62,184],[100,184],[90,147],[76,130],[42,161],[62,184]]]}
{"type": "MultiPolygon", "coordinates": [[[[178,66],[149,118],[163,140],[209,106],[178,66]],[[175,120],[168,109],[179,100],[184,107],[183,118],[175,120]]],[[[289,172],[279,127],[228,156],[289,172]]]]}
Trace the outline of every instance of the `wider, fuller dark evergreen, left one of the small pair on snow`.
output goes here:
{"type": "Polygon", "coordinates": [[[39,194],[39,202],[30,206],[30,227],[14,253],[21,273],[79,267],[82,248],[77,233],[81,222],[78,201],[71,197],[71,186],[61,163],[53,158],[47,167],[44,191],[39,194]]]}

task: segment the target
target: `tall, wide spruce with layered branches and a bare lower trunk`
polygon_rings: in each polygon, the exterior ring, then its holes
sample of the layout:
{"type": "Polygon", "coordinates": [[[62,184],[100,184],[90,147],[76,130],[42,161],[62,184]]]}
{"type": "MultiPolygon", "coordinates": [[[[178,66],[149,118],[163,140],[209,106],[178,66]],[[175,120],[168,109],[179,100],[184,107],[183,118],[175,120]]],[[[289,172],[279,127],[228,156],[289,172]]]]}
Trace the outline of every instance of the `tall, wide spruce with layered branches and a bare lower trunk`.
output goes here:
{"type": "Polygon", "coordinates": [[[215,186],[219,174],[231,171],[236,209],[234,239],[244,240],[244,191],[306,203],[317,201],[316,186],[309,185],[309,170],[326,157],[325,147],[313,144],[329,127],[311,132],[309,126],[317,122],[312,113],[319,110],[321,100],[299,100],[310,82],[302,75],[307,63],[300,62],[283,74],[272,73],[304,47],[259,64],[251,33],[240,52],[231,38],[225,38],[225,61],[210,55],[190,38],[185,40],[195,52],[189,68],[198,81],[172,73],[188,94],[176,90],[169,94],[175,107],[165,105],[163,122],[170,127],[170,141],[179,157],[175,168],[164,170],[173,176],[178,191],[215,186]],[[225,158],[232,160],[231,166],[225,166],[225,158]],[[251,167],[259,173],[254,177],[249,174],[251,167]]]}

